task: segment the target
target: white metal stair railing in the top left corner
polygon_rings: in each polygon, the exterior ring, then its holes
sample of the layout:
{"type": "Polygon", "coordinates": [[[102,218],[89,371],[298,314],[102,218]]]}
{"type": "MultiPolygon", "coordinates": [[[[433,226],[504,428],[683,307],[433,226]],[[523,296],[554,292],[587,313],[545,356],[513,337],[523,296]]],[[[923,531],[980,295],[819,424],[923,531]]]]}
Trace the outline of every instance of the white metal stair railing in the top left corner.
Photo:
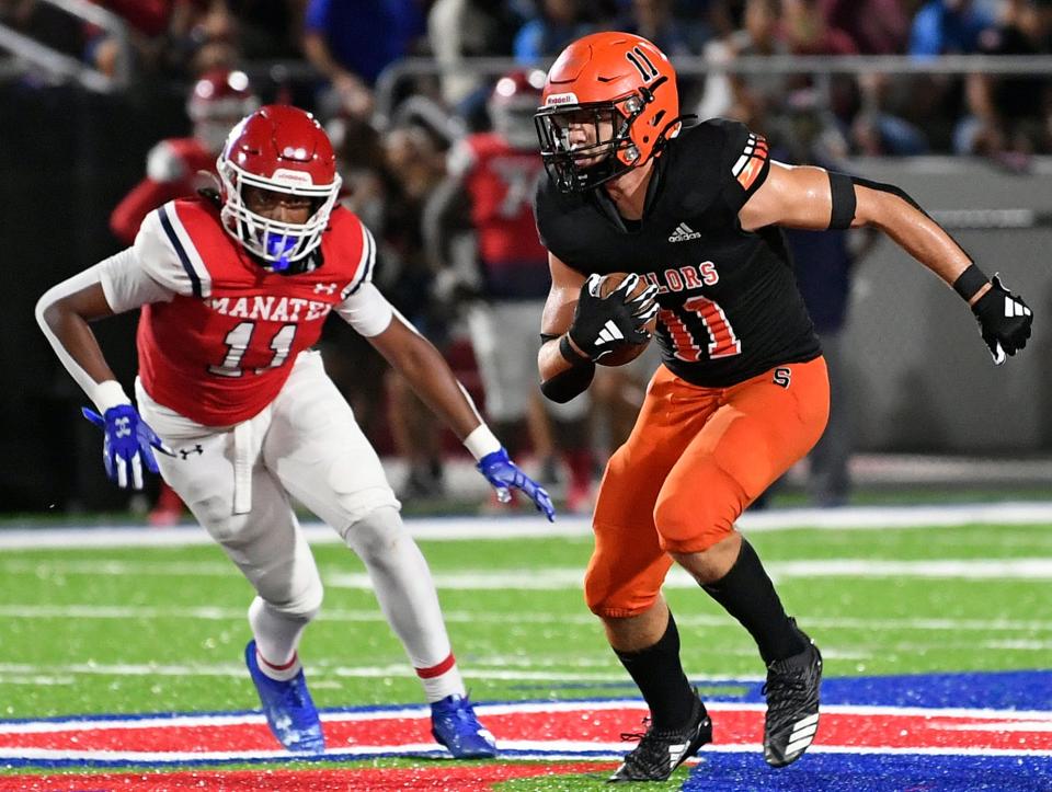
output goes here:
{"type": "MultiPolygon", "coordinates": [[[[89,91],[111,93],[127,88],[132,77],[132,50],[127,23],[117,14],[89,0],[37,0],[84,23],[103,28],[117,47],[114,73],[106,74],[82,60],[60,53],[21,31],[0,23],[0,49],[23,61],[37,76],[55,82],[77,82],[89,91]]],[[[25,69],[23,69],[24,71],[25,69]]]]}

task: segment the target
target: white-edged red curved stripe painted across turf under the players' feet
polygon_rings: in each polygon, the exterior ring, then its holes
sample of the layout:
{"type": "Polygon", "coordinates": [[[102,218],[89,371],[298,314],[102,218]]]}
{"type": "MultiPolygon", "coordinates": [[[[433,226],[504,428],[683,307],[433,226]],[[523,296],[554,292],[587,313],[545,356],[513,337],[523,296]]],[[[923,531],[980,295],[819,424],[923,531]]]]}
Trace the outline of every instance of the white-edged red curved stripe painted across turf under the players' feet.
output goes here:
{"type": "MultiPolygon", "coordinates": [[[[553,705],[552,710],[512,705],[478,708],[485,725],[505,747],[548,753],[576,753],[604,749],[620,744],[620,734],[639,725],[644,710],[630,703],[616,708],[570,709],[553,705]],[[563,745],[559,745],[562,743],[563,745]]],[[[892,708],[831,708],[823,712],[816,746],[837,748],[941,749],[941,750],[1027,750],[1052,751],[1052,713],[1017,713],[993,711],[917,710],[895,711],[892,708]]],[[[755,746],[763,737],[762,708],[714,704],[711,708],[713,737],[717,746],[755,746]]],[[[259,716],[247,715],[252,721],[259,716]]],[[[404,711],[325,713],[322,718],[325,744],[340,751],[373,753],[420,751],[438,746],[430,734],[430,720],[421,710],[407,716],[404,711]]],[[[52,758],[62,753],[76,757],[105,753],[119,754],[123,760],[135,760],[136,754],[150,754],[149,759],[186,760],[194,755],[237,757],[249,753],[278,751],[278,745],[262,722],[181,723],[179,720],[141,720],[134,724],[69,722],[47,724],[0,724],[0,757],[19,758],[20,751],[52,758]]],[[[26,756],[23,754],[23,756],[26,756]]],[[[145,758],[145,757],[144,757],[145,758]]]]}

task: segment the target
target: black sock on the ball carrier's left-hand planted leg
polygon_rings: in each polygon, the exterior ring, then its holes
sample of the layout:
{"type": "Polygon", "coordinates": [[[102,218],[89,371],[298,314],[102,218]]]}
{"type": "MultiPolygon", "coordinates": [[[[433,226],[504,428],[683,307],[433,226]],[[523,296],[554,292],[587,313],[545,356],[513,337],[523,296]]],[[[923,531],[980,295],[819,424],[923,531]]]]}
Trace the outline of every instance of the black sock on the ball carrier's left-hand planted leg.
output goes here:
{"type": "Polygon", "coordinates": [[[654,728],[682,728],[690,722],[697,696],[679,663],[679,631],[672,611],[668,611],[665,634],[653,646],[641,652],[614,650],[614,654],[650,705],[654,728]]]}

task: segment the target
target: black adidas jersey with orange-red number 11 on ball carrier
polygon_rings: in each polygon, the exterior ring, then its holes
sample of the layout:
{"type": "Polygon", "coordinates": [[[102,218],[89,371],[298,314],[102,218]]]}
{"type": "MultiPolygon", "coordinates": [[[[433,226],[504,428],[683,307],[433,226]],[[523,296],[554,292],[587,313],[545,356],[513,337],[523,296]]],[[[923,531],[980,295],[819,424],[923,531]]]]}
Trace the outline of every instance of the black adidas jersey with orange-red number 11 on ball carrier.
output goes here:
{"type": "Polygon", "coordinates": [[[670,140],[643,219],[624,220],[603,188],[537,190],[545,246],[582,274],[634,272],[659,287],[658,341],[674,374],[727,387],[821,354],[781,231],[743,231],[737,213],[767,177],[766,141],[711,119],[670,140]]]}

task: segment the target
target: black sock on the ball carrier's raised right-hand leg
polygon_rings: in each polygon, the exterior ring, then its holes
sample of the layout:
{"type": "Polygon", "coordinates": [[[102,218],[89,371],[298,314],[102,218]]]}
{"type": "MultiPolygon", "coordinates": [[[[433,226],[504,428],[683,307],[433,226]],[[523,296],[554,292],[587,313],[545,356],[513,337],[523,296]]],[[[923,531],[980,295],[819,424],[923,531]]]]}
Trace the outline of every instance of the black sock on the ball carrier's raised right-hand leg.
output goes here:
{"type": "Polygon", "coordinates": [[[759,556],[744,539],[730,572],[701,588],[748,630],[766,665],[807,648],[800,633],[786,616],[775,585],[759,563],[759,556]]]}

